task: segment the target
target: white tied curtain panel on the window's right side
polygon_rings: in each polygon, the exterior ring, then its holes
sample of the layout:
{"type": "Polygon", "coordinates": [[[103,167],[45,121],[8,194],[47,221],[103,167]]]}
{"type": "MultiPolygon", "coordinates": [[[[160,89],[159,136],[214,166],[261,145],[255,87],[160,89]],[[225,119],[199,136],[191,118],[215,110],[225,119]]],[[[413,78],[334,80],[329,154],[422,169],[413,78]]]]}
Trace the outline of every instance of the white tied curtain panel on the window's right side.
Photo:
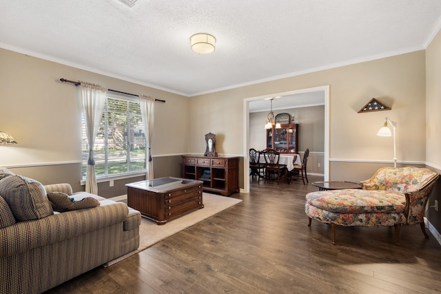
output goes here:
{"type": "Polygon", "coordinates": [[[153,160],[152,160],[152,135],[154,122],[154,98],[145,95],[139,95],[139,103],[141,107],[141,118],[143,120],[144,134],[145,134],[145,174],[146,180],[152,180],[153,176],[153,160]]]}

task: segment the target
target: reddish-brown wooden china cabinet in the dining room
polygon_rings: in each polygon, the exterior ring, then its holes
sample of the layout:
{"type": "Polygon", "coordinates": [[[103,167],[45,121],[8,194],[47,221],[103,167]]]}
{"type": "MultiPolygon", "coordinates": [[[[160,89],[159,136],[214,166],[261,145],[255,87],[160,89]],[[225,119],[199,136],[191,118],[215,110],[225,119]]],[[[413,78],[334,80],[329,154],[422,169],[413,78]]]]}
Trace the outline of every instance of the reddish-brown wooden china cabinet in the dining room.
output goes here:
{"type": "Polygon", "coordinates": [[[298,125],[290,123],[280,125],[280,129],[272,127],[267,131],[267,149],[282,150],[282,152],[298,153],[298,125]]]}

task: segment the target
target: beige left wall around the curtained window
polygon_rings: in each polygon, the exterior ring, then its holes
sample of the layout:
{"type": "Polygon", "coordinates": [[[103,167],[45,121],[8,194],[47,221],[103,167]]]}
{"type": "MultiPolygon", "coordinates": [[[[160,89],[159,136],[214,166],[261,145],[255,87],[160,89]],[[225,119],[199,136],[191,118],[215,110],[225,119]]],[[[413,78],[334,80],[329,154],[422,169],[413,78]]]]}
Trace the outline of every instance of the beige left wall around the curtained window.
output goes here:
{"type": "MultiPolygon", "coordinates": [[[[165,100],[166,103],[155,103],[154,109],[152,154],[158,175],[164,174],[164,164],[170,162],[164,158],[187,153],[189,98],[185,96],[9,50],[0,49],[0,65],[0,130],[10,133],[19,143],[0,146],[0,166],[23,167],[23,176],[45,183],[63,180],[74,189],[81,188],[81,109],[77,87],[61,83],[59,78],[165,100]]],[[[172,167],[175,168],[179,171],[179,166],[172,167]]],[[[170,173],[176,176],[176,171],[170,173]]],[[[112,189],[101,189],[103,196],[116,196],[123,191],[123,184],[117,184],[118,181],[112,189]]],[[[99,187],[103,185],[100,183],[99,187]]]]}

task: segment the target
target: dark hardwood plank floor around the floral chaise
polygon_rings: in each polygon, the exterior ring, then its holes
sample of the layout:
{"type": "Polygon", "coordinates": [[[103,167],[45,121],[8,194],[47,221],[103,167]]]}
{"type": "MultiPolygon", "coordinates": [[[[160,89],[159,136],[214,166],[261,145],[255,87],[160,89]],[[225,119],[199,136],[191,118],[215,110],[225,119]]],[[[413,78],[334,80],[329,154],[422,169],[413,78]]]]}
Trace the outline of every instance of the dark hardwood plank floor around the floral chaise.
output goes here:
{"type": "Polygon", "coordinates": [[[337,227],[336,245],[329,225],[307,227],[315,180],[252,182],[236,206],[48,293],[441,292],[441,246],[419,226],[401,229],[400,246],[389,227],[337,227]]]}

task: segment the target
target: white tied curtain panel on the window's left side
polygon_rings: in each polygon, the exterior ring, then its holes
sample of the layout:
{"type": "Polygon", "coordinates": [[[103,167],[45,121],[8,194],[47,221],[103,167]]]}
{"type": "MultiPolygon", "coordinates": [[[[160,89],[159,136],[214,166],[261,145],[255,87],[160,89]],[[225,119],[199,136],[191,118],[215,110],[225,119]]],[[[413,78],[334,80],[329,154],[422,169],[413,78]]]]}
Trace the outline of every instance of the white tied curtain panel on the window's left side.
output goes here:
{"type": "Polygon", "coordinates": [[[85,191],[98,195],[98,185],[96,184],[94,145],[96,133],[99,129],[101,116],[103,115],[106,90],[100,85],[85,83],[81,81],[81,106],[85,127],[89,143],[88,169],[85,174],[85,191]]]}

